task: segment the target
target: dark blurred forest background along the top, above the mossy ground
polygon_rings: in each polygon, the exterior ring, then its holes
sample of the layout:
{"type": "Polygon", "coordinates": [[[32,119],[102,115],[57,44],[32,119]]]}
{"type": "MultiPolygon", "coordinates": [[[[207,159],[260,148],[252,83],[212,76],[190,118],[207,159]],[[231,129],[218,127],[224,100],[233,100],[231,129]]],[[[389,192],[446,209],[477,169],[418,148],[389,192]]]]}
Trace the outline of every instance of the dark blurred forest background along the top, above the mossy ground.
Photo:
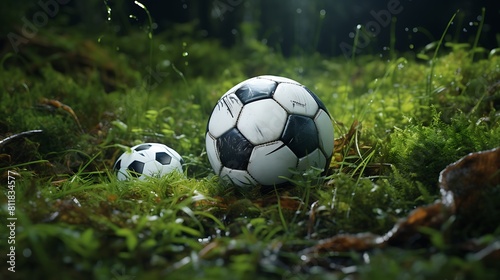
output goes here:
{"type": "MultiPolygon", "coordinates": [[[[42,2],[56,0],[42,0],[42,2]]],[[[67,1],[67,0],[66,0],[67,1]]],[[[194,38],[217,39],[224,46],[243,40],[242,25],[251,27],[253,36],[286,56],[319,52],[329,56],[345,54],[340,45],[352,45],[358,24],[374,20],[373,13],[387,10],[391,0],[142,0],[153,17],[154,32],[169,32],[183,23],[194,23],[194,38]]],[[[480,46],[493,49],[500,41],[500,9],[498,1],[400,0],[401,13],[396,15],[393,37],[398,51],[418,51],[439,40],[453,14],[460,10],[448,32],[448,40],[470,43],[478,30],[482,8],[486,16],[480,46]],[[410,48],[410,46],[413,46],[410,48]]],[[[0,32],[6,34],[22,25],[21,17],[40,10],[38,1],[2,1],[0,32]]],[[[64,14],[50,24],[63,23],[68,28],[80,27],[89,33],[103,32],[106,24],[126,34],[147,23],[145,11],[132,0],[68,1],[61,5],[64,14]],[[107,21],[106,4],[111,8],[107,21]],[[129,15],[135,16],[130,18],[129,15]]],[[[69,30],[69,29],[68,29],[69,30]]],[[[389,51],[391,26],[380,26],[375,36],[362,45],[363,53],[389,51]]]]}

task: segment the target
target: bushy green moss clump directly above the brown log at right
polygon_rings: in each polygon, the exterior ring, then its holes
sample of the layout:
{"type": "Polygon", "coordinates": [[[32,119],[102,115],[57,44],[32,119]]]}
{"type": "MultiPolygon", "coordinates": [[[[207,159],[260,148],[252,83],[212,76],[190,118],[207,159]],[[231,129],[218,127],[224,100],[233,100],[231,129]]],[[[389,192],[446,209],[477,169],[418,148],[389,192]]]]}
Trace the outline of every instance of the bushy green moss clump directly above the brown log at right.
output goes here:
{"type": "MultiPolygon", "coordinates": [[[[396,129],[390,139],[389,161],[394,164],[397,174],[408,178],[408,182],[415,186],[422,184],[428,192],[437,194],[439,172],[448,164],[468,153],[498,145],[496,139],[500,137],[500,128],[495,125],[498,116],[492,114],[491,118],[488,124],[457,113],[450,122],[444,122],[434,111],[433,121],[428,126],[417,123],[396,129]]],[[[417,193],[398,185],[394,187],[408,192],[407,199],[416,198],[417,193]]]]}

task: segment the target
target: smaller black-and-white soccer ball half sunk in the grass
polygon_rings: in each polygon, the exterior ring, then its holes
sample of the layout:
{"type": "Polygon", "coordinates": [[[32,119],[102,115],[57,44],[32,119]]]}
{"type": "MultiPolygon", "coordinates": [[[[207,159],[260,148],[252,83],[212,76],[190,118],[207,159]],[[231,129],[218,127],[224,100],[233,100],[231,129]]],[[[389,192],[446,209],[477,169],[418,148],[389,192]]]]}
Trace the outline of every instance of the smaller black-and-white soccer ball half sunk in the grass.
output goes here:
{"type": "Polygon", "coordinates": [[[166,145],[144,143],[131,150],[123,153],[113,167],[120,181],[161,177],[174,171],[182,173],[182,157],[166,145]]]}

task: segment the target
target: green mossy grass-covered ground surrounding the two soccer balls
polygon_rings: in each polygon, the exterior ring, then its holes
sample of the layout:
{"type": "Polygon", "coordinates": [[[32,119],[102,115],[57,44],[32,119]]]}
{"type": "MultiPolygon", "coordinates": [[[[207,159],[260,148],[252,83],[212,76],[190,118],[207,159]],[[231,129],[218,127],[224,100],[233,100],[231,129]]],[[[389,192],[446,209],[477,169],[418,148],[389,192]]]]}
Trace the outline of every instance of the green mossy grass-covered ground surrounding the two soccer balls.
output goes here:
{"type": "MultiPolygon", "coordinates": [[[[500,56],[473,59],[470,49],[449,45],[432,64],[415,54],[285,58],[251,36],[227,49],[186,36],[190,28],[152,41],[140,32],[97,42],[41,31],[19,54],[4,54],[1,138],[43,131],[0,146],[5,192],[8,173],[16,174],[16,273],[6,269],[2,230],[5,279],[500,275],[498,266],[453,250],[440,232],[423,248],[331,252],[317,263],[300,254],[336,234],[387,231],[438,198],[448,164],[498,146],[500,56]],[[330,110],[337,140],[327,175],[310,170],[265,193],[213,175],[204,152],[208,116],[227,89],[262,74],[301,82],[330,110]],[[147,141],[176,149],[185,173],[117,181],[111,168],[121,147],[147,141]]],[[[498,188],[491,197],[500,198],[498,188]]],[[[7,221],[7,196],[0,201],[7,221]]],[[[456,236],[498,243],[500,227],[491,224],[500,224],[500,208],[488,207],[480,214],[487,224],[456,236]]]]}

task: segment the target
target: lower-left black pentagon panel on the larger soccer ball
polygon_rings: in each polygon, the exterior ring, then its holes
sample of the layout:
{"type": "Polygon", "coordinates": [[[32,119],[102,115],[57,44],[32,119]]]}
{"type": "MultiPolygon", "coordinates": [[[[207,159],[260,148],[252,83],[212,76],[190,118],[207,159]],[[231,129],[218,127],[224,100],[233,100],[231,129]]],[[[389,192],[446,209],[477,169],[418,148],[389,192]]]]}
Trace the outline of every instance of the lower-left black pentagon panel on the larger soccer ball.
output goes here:
{"type": "Polygon", "coordinates": [[[233,128],[217,139],[220,161],[227,168],[246,170],[253,145],[238,129],[233,128]]]}

